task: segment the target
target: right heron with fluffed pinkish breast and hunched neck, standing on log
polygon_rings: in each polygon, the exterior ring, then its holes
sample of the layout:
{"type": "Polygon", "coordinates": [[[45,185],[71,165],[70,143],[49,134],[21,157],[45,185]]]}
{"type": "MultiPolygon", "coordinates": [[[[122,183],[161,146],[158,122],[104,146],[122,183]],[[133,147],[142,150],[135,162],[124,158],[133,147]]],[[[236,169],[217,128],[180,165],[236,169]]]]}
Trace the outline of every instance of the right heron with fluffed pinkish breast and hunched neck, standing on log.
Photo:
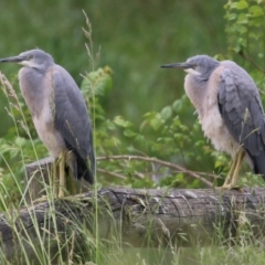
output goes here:
{"type": "Polygon", "coordinates": [[[235,187],[245,158],[256,174],[265,179],[265,118],[258,89],[232,61],[219,62],[206,55],[162,67],[183,68],[184,89],[197,108],[204,135],[218,150],[234,160],[223,188],[235,187]]]}

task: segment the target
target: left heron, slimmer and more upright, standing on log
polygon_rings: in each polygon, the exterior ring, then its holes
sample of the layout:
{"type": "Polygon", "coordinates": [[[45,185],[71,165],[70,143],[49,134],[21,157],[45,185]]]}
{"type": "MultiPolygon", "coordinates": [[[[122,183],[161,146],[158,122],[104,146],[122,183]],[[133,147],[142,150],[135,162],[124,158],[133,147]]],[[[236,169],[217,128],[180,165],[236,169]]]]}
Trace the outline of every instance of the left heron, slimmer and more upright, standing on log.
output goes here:
{"type": "Polygon", "coordinates": [[[59,197],[64,195],[65,163],[76,179],[84,178],[93,184],[92,126],[85,100],[72,76],[41,50],[0,60],[6,62],[23,65],[19,71],[20,89],[39,137],[51,157],[60,160],[59,197]]]}

